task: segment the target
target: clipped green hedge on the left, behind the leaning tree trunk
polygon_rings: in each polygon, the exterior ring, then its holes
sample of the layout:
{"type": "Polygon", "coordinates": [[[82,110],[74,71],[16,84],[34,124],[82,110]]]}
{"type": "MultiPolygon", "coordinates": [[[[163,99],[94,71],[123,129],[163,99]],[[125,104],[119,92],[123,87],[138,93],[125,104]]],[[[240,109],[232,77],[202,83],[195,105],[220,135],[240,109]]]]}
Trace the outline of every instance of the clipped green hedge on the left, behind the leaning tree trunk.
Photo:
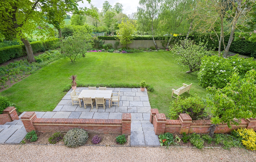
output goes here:
{"type": "MultiPolygon", "coordinates": [[[[60,46],[58,38],[45,41],[33,41],[30,43],[30,45],[33,53],[44,52],[49,49],[56,49],[60,46]]],[[[0,48],[0,63],[5,63],[10,59],[15,59],[26,55],[27,52],[24,44],[2,47],[0,48]]]]}

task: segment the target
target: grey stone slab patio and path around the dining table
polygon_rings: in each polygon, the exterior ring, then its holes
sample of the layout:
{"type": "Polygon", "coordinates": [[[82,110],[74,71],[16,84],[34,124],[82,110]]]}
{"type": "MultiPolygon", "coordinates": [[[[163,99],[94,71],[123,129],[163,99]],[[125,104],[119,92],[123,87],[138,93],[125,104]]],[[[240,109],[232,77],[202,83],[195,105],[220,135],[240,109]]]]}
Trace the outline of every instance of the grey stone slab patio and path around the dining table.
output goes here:
{"type": "MultiPolygon", "coordinates": [[[[77,88],[76,92],[81,92],[84,89],[88,88],[77,88]]],[[[112,90],[113,93],[117,93],[120,90],[119,107],[112,106],[109,108],[108,100],[106,101],[107,106],[105,106],[105,109],[103,109],[103,106],[99,106],[96,109],[96,105],[93,106],[93,109],[91,109],[91,106],[86,106],[86,109],[84,109],[83,102],[81,104],[82,107],[79,105],[73,106],[70,97],[72,90],[70,90],[53,111],[36,111],[36,116],[37,118],[121,119],[122,113],[131,113],[131,145],[159,146],[158,136],[155,135],[153,124],[149,121],[151,107],[146,89],[144,92],[141,92],[140,88],[107,88],[107,90],[112,90]]],[[[17,143],[20,143],[20,141],[17,143]]]]}

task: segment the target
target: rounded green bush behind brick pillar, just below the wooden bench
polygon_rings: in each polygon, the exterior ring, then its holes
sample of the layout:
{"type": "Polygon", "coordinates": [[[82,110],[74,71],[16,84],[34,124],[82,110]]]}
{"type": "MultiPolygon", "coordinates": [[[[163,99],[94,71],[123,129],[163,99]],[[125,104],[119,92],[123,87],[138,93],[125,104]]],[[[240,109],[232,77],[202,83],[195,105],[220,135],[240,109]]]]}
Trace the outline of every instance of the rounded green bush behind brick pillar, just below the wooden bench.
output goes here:
{"type": "Polygon", "coordinates": [[[180,113],[187,113],[192,120],[202,120],[206,116],[205,107],[205,103],[197,95],[185,99],[179,97],[171,102],[168,117],[176,120],[180,113]]]}

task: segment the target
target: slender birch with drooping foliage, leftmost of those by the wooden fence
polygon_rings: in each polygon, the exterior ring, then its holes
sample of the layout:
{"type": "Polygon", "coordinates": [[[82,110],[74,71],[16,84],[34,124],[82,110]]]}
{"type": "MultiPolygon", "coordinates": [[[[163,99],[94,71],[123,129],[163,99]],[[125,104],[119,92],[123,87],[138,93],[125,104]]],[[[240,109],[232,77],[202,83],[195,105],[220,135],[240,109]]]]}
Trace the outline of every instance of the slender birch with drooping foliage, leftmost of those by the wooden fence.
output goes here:
{"type": "Polygon", "coordinates": [[[148,26],[148,28],[150,28],[151,30],[151,35],[152,35],[152,39],[153,42],[157,47],[156,41],[155,41],[155,33],[156,33],[156,28],[157,28],[157,18],[158,18],[158,14],[160,11],[160,1],[161,0],[140,0],[139,1],[139,5],[140,7],[138,7],[137,9],[137,16],[138,16],[138,20],[139,22],[142,22],[144,26],[148,26]],[[143,19],[143,21],[141,21],[141,19],[143,19]]]}

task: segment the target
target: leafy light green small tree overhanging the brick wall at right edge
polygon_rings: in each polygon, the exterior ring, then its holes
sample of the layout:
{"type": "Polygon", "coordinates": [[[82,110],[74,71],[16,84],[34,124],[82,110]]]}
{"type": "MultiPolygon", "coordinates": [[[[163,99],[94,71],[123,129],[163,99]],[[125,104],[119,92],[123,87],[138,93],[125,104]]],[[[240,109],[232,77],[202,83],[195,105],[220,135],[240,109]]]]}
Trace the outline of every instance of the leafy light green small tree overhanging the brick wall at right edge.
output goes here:
{"type": "Polygon", "coordinates": [[[212,92],[208,95],[207,104],[212,110],[212,122],[214,124],[227,123],[239,124],[242,118],[256,117],[256,71],[250,70],[244,78],[234,72],[230,82],[222,89],[207,88],[212,92]],[[236,121],[237,119],[238,121],[236,121]]]}

